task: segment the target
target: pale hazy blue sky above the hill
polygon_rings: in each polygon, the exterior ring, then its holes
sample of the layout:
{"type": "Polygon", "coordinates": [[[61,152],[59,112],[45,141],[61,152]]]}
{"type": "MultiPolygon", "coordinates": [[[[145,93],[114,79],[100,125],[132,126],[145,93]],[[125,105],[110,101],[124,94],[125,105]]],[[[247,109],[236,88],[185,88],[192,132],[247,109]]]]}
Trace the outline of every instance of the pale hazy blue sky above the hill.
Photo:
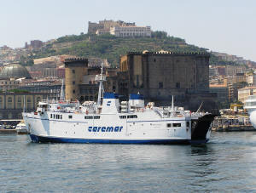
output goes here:
{"type": "Polygon", "coordinates": [[[256,61],[256,0],[0,0],[0,46],[87,33],[105,19],[256,61]]]}

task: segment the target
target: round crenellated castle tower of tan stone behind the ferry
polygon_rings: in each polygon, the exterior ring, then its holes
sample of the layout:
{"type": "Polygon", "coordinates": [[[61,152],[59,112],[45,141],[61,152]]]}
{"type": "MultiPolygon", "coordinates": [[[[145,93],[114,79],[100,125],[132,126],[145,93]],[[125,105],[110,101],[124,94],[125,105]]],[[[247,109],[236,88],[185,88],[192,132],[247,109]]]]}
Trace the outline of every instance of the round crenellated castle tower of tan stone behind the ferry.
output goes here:
{"type": "Polygon", "coordinates": [[[85,58],[70,58],[65,63],[65,91],[67,100],[79,99],[79,84],[84,75],[88,74],[88,60],[85,58]]]}

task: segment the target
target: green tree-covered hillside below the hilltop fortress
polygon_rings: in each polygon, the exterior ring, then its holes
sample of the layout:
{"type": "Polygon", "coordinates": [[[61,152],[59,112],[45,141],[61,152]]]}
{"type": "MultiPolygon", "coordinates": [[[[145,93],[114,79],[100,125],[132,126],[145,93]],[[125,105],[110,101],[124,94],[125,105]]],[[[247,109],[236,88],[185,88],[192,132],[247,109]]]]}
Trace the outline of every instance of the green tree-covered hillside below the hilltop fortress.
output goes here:
{"type": "MultiPolygon", "coordinates": [[[[57,54],[71,54],[87,58],[98,57],[108,59],[113,66],[119,65],[119,56],[127,52],[143,50],[175,52],[206,52],[207,48],[189,45],[178,37],[169,37],[164,31],[154,31],[153,37],[114,37],[112,35],[93,36],[88,34],[59,37],[54,43],[33,51],[30,59],[42,58],[57,54]]],[[[227,61],[219,61],[212,55],[210,64],[236,65],[227,61]]]]}

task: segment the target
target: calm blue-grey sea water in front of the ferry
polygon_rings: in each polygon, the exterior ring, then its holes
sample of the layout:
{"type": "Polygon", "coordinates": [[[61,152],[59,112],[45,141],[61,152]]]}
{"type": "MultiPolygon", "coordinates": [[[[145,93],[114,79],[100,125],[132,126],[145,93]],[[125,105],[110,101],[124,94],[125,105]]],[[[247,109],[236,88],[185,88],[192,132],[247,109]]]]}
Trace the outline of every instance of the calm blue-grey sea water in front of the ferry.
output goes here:
{"type": "Polygon", "coordinates": [[[35,144],[0,135],[0,192],[256,192],[256,132],[207,145],[35,144]]]}

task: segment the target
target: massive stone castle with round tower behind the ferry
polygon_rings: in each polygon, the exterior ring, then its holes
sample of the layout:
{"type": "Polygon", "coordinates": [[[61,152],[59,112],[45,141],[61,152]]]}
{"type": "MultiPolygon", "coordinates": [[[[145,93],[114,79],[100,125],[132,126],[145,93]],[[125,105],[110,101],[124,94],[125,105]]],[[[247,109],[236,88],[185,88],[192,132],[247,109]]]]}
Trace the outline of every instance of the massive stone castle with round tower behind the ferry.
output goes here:
{"type": "MultiPolygon", "coordinates": [[[[122,98],[129,94],[143,94],[146,102],[171,105],[172,95],[176,105],[196,111],[201,102],[207,111],[217,109],[216,94],[209,93],[209,58],[207,53],[148,52],[128,53],[120,58],[119,69],[107,77],[105,91],[118,92],[122,98]]],[[[88,73],[88,62],[66,60],[66,98],[90,99],[86,89],[97,85],[83,82],[88,73]]],[[[92,88],[93,87],[93,88],[92,88]]]]}

